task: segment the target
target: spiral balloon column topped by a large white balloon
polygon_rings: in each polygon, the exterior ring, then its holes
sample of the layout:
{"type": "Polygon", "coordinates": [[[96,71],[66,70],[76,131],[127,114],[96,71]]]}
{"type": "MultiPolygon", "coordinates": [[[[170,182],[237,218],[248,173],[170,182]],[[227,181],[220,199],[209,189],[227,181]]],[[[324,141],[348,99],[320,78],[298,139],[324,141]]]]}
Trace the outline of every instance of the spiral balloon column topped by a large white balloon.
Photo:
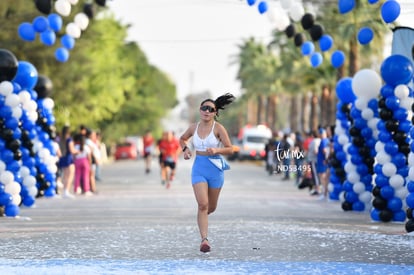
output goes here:
{"type": "Polygon", "coordinates": [[[372,70],[361,70],[352,79],[352,90],[356,99],[350,110],[351,142],[347,148],[347,180],[343,185],[345,193],[342,202],[342,209],[345,211],[370,209],[375,162],[376,97],[380,87],[381,78],[372,70]]]}

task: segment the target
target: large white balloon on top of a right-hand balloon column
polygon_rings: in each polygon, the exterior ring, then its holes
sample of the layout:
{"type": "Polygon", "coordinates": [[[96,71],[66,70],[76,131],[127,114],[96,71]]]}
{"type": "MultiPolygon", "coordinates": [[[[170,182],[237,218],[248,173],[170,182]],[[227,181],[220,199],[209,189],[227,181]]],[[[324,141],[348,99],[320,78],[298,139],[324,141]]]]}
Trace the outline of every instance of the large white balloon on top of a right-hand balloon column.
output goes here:
{"type": "Polygon", "coordinates": [[[380,94],[381,87],[381,77],[371,69],[358,71],[352,79],[352,90],[358,98],[376,98],[380,94]]]}

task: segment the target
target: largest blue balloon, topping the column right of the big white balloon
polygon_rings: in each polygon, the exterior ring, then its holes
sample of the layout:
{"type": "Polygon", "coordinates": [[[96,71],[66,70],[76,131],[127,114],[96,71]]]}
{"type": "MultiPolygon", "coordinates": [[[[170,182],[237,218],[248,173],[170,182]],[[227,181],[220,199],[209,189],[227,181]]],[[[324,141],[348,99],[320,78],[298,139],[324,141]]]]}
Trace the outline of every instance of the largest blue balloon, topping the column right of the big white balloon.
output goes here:
{"type": "Polygon", "coordinates": [[[391,85],[408,84],[413,79],[413,64],[403,55],[395,54],[386,58],[381,64],[381,76],[391,85]]]}

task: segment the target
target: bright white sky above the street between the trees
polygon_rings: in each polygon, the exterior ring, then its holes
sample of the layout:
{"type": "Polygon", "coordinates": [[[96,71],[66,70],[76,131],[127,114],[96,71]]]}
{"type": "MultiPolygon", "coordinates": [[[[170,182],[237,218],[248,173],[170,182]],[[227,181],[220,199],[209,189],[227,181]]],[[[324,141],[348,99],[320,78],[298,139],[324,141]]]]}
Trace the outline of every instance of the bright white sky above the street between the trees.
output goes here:
{"type": "MultiPolygon", "coordinates": [[[[410,20],[414,3],[398,2],[398,22],[414,27],[410,20]]],[[[214,97],[241,93],[234,63],[238,45],[250,37],[269,42],[275,20],[286,16],[280,14],[286,12],[283,3],[267,3],[268,12],[263,14],[257,4],[249,6],[242,0],[112,0],[107,6],[122,23],[131,24],[128,39],[138,42],[149,62],[172,79],[183,100],[204,91],[214,97]]]]}

